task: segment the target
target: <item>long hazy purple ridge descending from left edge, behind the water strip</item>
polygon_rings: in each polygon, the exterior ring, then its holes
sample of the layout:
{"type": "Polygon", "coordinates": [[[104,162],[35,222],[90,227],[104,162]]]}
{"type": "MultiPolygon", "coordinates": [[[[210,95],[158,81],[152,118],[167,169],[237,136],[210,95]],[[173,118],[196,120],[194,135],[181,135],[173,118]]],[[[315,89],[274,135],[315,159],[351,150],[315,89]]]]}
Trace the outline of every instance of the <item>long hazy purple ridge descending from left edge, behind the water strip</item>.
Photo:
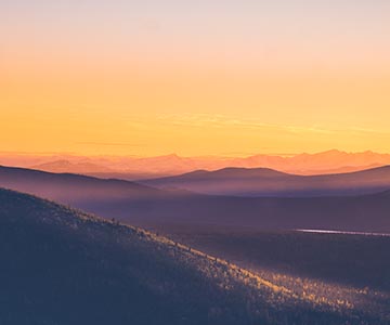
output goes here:
{"type": "MultiPolygon", "coordinates": [[[[284,178],[283,173],[276,174],[284,178]]],[[[272,171],[271,179],[274,176],[272,171]]],[[[389,192],[300,198],[209,196],[155,190],[128,181],[8,167],[0,168],[0,186],[167,232],[180,225],[207,229],[210,224],[253,230],[390,232],[389,192]]]]}

